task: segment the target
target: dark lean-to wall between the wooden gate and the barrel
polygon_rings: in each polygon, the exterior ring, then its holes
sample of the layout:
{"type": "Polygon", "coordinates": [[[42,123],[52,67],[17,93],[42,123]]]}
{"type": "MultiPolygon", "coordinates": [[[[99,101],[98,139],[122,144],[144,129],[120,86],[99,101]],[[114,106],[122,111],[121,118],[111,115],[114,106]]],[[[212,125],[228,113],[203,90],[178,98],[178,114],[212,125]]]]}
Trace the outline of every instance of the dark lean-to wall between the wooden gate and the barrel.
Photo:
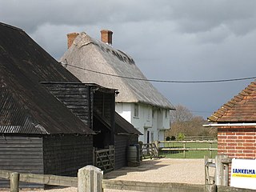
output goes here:
{"type": "Polygon", "coordinates": [[[114,169],[127,166],[127,147],[138,144],[138,136],[132,134],[117,134],[114,142],[114,169]]]}

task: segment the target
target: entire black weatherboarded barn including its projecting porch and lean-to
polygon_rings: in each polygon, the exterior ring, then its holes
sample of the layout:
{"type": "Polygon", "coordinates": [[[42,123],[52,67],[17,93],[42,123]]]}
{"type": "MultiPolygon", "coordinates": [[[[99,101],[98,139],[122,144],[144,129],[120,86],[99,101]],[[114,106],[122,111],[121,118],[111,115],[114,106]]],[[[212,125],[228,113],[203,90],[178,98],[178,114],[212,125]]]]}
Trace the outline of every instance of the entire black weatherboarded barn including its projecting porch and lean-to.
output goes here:
{"type": "MultiPolygon", "coordinates": [[[[141,134],[114,111],[116,90],[79,82],[23,30],[4,23],[0,93],[0,170],[74,176],[94,164],[94,147],[108,146],[118,169],[141,134]]],[[[0,179],[0,188],[9,185],[0,179]]]]}

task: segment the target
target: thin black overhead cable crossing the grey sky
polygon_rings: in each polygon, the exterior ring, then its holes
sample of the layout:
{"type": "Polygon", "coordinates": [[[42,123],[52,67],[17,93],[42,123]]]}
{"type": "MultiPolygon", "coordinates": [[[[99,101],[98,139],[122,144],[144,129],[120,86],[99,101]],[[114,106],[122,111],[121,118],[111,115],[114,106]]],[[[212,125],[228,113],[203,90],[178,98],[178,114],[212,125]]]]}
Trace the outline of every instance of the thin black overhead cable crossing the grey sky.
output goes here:
{"type": "Polygon", "coordinates": [[[250,79],[255,79],[256,77],[248,77],[248,78],[230,78],[230,79],[219,79],[219,80],[200,80],[200,81],[175,81],[175,80],[158,80],[158,79],[146,79],[146,78],[131,78],[131,77],[126,77],[126,76],[121,76],[121,75],[117,75],[117,74],[107,74],[107,73],[103,73],[100,71],[96,71],[96,70],[88,70],[86,68],[82,68],[79,66],[73,66],[64,62],[61,62],[61,64],[63,66],[72,66],[74,68],[77,68],[79,70],[86,70],[86,71],[90,71],[92,73],[95,74],[104,74],[104,75],[108,75],[111,77],[116,77],[116,78],[127,78],[127,79],[133,79],[133,80],[138,80],[138,81],[145,81],[145,82],[167,82],[167,83],[212,83],[212,82],[237,82],[237,81],[245,81],[245,80],[250,80],[250,79]]]}

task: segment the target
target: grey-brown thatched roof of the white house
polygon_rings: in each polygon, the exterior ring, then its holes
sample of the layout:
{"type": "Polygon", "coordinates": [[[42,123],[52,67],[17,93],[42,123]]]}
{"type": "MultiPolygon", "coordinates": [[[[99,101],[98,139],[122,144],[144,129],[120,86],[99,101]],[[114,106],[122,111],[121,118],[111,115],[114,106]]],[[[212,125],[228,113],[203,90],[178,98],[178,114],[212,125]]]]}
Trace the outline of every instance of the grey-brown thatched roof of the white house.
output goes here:
{"type": "Polygon", "coordinates": [[[142,102],[151,106],[174,109],[174,106],[150,82],[130,79],[146,79],[135,65],[133,58],[114,49],[113,46],[90,38],[84,32],[74,40],[73,45],[62,56],[61,62],[66,62],[67,69],[82,82],[118,89],[120,93],[116,102],[142,102]]]}

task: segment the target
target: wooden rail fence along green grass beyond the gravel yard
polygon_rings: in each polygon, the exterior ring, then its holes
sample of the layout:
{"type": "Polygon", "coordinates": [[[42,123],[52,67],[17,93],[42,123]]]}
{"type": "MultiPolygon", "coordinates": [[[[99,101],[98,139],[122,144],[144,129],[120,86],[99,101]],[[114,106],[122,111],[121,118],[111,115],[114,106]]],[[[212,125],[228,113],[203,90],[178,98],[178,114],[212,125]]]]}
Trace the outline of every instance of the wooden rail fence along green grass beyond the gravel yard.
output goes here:
{"type": "Polygon", "coordinates": [[[186,152],[191,151],[191,150],[205,150],[209,151],[210,157],[212,158],[213,154],[212,152],[214,150],[218,150],[217,148],[213,148],[213,144],[218,143],[216,140],[212,141],[160,141],[158,142],[158,151],[159,154],[164,154],[164,153],[170,153],[170,152],[182,152],[183,153],[183,158],[186,158],[186,152]],[[209,144],[209,147],[187,147],[187,144],[191,143],[207,143],[209,144]],[[175,147],[174,144],[182,145],[182,147],[175,147]]]}

